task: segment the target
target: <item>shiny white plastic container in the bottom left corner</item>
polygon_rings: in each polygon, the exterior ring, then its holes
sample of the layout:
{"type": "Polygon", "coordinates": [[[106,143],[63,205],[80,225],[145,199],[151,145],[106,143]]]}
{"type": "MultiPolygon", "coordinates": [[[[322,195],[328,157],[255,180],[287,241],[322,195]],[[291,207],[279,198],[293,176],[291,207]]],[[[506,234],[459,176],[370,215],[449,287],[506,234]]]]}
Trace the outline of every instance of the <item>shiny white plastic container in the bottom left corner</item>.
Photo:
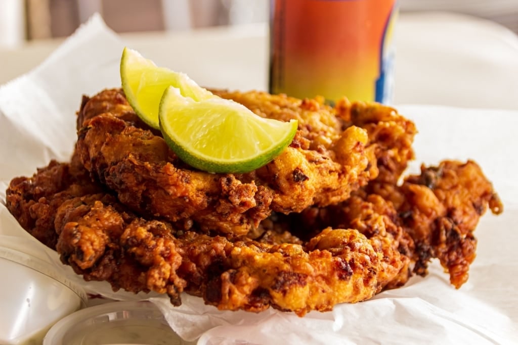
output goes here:
{"type": "Polygon", "coordinates": [[[31,246],[20,248],[23,239],[5,238],[0,241],[0,343],[40,344],[54,323],[85,306],[87,295],[51,263],[28,253],[31,246]]]}

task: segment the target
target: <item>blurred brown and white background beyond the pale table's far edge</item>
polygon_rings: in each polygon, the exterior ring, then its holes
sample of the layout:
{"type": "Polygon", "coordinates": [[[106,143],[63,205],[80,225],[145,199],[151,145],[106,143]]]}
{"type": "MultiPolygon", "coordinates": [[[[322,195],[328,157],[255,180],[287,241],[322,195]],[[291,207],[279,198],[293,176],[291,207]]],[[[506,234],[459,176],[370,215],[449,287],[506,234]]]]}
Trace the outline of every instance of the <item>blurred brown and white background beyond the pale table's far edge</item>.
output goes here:
{"type": "MultiPolygon", "coordinates": [[[[0,0],[0,48],[65,37],[95,12],[114,31],[190,30],[268,21],[270,0],[0,0]]],[[[518,33],[518,0],[399,0],[405,11],[451,11],[518,33]]]]}

